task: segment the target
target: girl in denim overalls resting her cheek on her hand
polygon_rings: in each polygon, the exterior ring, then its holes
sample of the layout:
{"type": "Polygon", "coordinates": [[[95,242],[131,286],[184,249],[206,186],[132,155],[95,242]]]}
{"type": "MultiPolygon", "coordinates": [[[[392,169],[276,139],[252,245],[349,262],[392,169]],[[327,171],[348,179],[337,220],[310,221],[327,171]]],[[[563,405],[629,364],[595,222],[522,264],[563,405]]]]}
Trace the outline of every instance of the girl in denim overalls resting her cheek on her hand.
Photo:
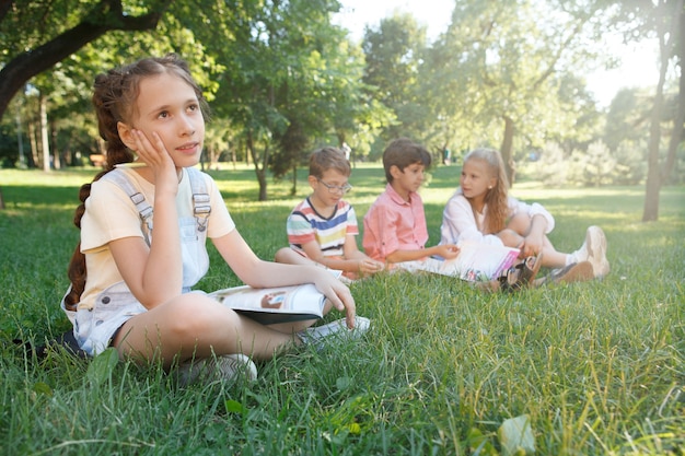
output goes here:
{"type": "Polygon", "coordinates": [[[93,103],[107,163],[81,189],[74,218],[81,242],[62,302],[85,352],[114,347],[121,359],[159,361],[167,370],[178,364],[185,384],[202,372],[212,379],[254,379],[251,356],[265,360],[330,334],[352,337],[367,329],[349,290],[330,273],[259,259],[214,182],[193,168],[202,151],[205,101],[183,60],[147,58],[100,74],[93,103]],[[194,179],[206,195],[198,196],[194,179]],[[149,219],[143,201],[152,209],[149,219]],[[208,270],[206,237],[248,285],[313,283],[327,297],[324,312],[345,311],[346,321],[309,330],[312,321],[265,326],[190,292],[208,270]]]}

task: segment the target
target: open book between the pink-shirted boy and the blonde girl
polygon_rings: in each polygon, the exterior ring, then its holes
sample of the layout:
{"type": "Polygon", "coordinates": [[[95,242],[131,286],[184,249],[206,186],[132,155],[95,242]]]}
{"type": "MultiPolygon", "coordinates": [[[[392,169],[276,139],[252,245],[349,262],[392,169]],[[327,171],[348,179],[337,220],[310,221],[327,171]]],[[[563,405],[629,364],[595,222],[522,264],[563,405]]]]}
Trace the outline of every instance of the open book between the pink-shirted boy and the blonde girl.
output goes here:
{"type": "Polygon", "coordinates": [[[469,282],[497,279],[516,261],[521,250],[467,241],[458,244],[460,254],[454,259],[427,258],[422,261],[398,262],[408,271],[433,272],[456,277],[469,282]]]}

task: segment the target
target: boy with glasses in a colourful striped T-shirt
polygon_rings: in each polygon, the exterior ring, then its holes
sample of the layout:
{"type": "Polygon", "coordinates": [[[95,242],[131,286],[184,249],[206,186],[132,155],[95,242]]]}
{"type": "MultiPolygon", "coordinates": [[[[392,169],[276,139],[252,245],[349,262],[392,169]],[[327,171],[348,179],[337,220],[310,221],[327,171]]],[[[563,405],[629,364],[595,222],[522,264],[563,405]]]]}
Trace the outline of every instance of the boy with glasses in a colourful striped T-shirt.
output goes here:
{"type": "Polygon", "coordinates": [[[357,215],[342,199],[352,189],[348,183],[350,174],[350,164],[341,150],[327,147],[312,153],[307,178],[312,195],[288,217],[290,247],[276,253],[277,262],[313,261],[342,271],[342,278],[349,280],[383,270],[383,262],[369,258],[357,247],[357,215]]]}

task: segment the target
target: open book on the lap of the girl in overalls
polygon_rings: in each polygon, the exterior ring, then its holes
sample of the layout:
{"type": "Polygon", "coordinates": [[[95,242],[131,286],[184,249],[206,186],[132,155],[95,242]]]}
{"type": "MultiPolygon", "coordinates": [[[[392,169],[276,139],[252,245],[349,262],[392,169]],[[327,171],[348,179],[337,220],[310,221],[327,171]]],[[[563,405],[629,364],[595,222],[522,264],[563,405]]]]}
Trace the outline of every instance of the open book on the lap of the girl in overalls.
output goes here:
{"type": "Polygon", "coordinates": [[[269,289],[244,285],[209,295],[264,325],[322,318],[326,302],[326,296],[311,283],[269,289]]]}

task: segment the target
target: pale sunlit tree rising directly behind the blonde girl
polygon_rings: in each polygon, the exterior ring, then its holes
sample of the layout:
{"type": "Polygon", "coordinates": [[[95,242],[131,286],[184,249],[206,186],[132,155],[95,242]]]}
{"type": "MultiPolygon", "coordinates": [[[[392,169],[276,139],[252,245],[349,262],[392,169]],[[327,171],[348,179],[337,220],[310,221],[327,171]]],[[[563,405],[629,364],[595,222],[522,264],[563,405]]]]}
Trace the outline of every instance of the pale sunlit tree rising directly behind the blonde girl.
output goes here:
{"type": "Polygon", "coordinates": [[[564,91],[592,56],[583,39],[597,8],[553,3],[460,1],[431,59],[440,81],[461,79],[438,102],[443,118],[480,126],[462,142],[498,143],[512,183],[515,149],[539,148],[579,118],[581,98],[564,91]]]}

